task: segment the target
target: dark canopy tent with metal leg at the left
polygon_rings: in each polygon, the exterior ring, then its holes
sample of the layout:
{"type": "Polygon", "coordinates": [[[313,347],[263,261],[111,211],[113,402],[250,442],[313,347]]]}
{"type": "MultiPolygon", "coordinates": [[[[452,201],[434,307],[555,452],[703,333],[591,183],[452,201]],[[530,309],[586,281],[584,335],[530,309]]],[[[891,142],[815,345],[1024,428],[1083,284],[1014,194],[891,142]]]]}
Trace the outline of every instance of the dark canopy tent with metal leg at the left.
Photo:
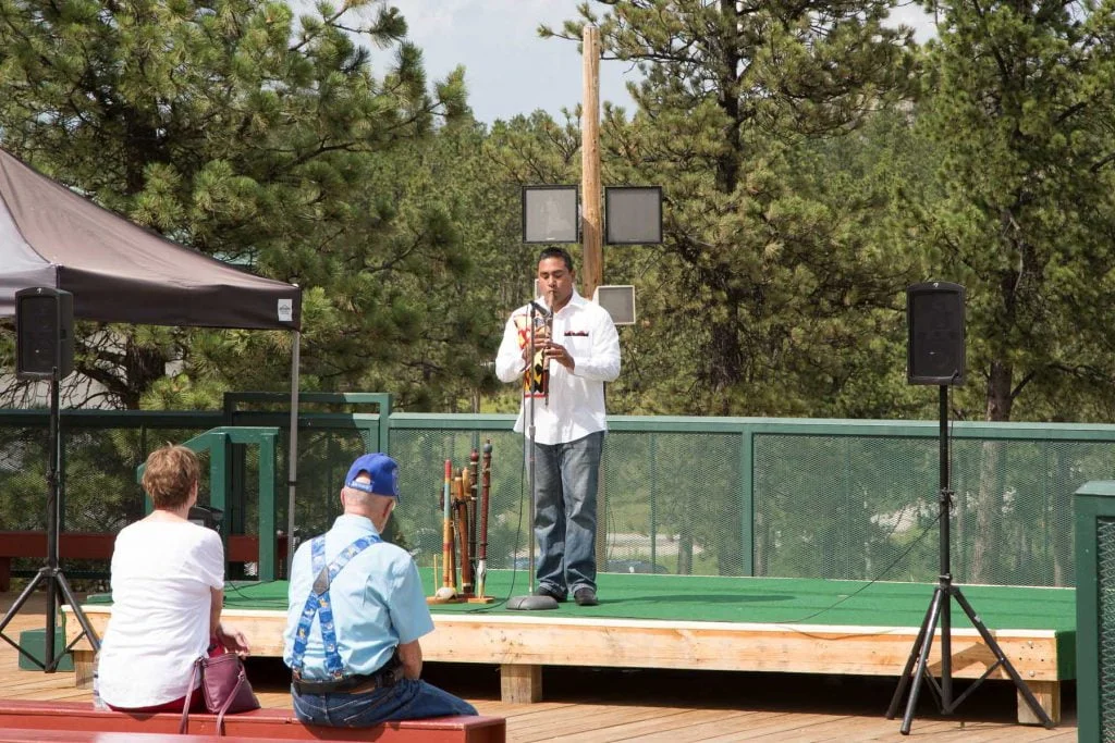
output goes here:
{"type": "Polygon", "coordinates": [[[13,316],[16,292],[33,286],[72,293],[74,316],[81,320],[293,332],[293,529],[302,310],[297,285],[252,275],[144,229],[0,149],[0,317],[13,316]]]}

